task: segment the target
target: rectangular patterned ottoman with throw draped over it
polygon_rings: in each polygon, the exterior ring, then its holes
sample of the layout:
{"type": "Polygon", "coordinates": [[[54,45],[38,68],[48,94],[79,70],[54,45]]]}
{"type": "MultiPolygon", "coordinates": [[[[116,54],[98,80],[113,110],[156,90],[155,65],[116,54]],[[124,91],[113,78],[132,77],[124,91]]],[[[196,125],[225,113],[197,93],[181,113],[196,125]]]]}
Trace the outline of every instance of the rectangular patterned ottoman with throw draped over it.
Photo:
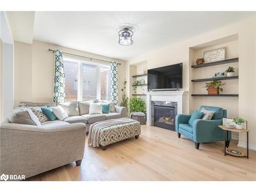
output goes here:
{"type": "Polygon", "coordinates": [[[90,126],[88,144],[93,147],[106,146],[131,137],[139,138],[140,122],[130,118],[120,118],[94,123],[90,126]]]}

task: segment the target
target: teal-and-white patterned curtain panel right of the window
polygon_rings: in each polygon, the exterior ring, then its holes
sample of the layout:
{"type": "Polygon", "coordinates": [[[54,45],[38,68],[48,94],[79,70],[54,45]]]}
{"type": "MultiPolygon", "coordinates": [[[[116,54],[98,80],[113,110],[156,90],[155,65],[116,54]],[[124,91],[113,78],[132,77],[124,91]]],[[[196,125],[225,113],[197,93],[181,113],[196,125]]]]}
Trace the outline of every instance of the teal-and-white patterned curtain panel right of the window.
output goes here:
{"type": "Polygon", "coordinates": [[[111,100],[117,104],[117,62],[111,62],[111,100]]]}

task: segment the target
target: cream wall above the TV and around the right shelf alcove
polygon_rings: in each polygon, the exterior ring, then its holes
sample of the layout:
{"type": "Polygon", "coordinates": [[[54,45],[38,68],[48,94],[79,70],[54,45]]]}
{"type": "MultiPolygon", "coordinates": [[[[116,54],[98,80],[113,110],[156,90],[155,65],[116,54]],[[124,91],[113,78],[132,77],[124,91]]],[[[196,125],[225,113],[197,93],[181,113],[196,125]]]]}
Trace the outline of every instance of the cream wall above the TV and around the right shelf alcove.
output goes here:
{"type": "MultiPolygon", "coordinates": [[[[238,34],[238,55],[239,55],[239,101],[238,101],[238,114],[248,120],[251,132],[249,134],[250,147],[256,150],[256,122],[255,122],[255,17],[243,20],[234,25],[226,26],[221,29],[170,45],[166,48],[146,53],[139,57],[126,61],[126,65],[133,65],[134,63],[147,60],[147,68],[152,69],[161,66],[172,65],[175,63],[183,62],[183,90],[191,90],[191,60],[190,47],[204,44],[205,42],[221,39],[227,36],[238,34]]],[[[237,42],[236,42],[237,44],[237,42]]],[[[129,76],[129,74],[127,74],[129,76]]],[[[212,98],[213,99],[213,98],[212,98]]],[[[226,100],[216,100],[216,105],[225,105],[226,100]]],[[[187,98],[187,105],[185,106],[185,113],[191,113],[197,109],[199,103],[193,102],[191,96],[187,98]]],[[[201,104],[204,104],[202,102],[201,104]]],[[[212,103],[214,104],[214,103],[212,103]]],[[[236,110],[236,109],[232,109],[236,110]]],[[[235,111],[228,113],[236,113],[235,111]]],[[[245,136],[239,136],[239,143],[245,143],[245,136]]]]}

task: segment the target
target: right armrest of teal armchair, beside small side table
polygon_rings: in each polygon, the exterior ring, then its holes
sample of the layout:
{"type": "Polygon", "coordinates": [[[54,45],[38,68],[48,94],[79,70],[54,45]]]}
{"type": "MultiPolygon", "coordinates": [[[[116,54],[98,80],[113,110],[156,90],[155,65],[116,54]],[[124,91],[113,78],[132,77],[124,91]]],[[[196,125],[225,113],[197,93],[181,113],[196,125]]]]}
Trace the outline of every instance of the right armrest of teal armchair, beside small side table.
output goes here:
{"type": "MultiPolygon", "coordinates": [[[[222,125],[222,119],[196,119],[193,122],[194,141],[197,143],[224,141],[225,132],[218,125],[222,125]]],[[[231,140],[231,133],[229,133],[228,140],[231,140]]]]}

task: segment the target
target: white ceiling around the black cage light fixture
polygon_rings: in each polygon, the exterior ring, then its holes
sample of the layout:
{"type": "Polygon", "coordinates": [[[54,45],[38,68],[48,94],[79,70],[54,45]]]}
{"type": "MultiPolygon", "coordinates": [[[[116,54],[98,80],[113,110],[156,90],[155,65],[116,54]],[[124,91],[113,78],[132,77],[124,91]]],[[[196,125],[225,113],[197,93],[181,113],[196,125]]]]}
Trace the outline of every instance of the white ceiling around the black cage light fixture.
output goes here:
{"type": "Polygon", "coordinates": [[[255,12],[35,12],[33,38],[60,46],[128,60],[255,12]],[[137,26],[134,44],[118,44],[116,25],[137,26]]]}

